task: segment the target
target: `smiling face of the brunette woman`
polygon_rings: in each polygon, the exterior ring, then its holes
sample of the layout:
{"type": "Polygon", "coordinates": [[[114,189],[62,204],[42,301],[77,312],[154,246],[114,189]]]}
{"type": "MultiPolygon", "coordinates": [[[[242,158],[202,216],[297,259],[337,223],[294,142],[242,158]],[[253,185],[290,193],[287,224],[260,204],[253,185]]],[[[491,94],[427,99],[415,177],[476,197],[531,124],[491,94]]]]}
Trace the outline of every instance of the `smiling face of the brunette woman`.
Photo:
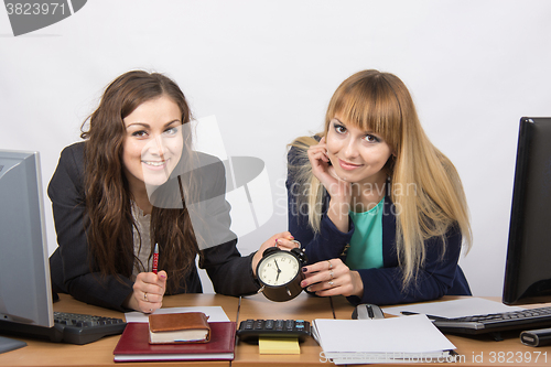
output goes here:
{"type": "Polygon", "coordinates": [[[125,119],[125,174],[134,194],[169,180],[182,156],[182,111],[168,96],[150,99],[125,119]]]}

